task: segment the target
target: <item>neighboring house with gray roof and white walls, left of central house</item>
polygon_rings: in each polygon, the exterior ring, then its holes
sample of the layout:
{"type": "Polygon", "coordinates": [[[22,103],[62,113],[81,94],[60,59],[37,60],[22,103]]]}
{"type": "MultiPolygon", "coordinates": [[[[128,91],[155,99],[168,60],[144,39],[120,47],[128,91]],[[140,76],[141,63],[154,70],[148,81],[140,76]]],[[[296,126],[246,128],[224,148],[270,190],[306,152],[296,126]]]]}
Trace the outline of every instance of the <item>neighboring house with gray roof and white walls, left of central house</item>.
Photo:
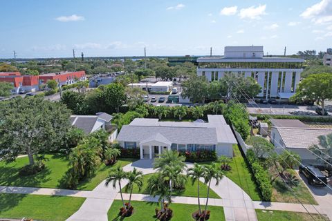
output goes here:
{"type": "Polygon", "coordinates": [[[82,129],[84,133],[90,134],[100,129],[111,133],[109,140],[115,140],[118,130],[111,125],[113,117],[107,113],[97,113],[96,115],[71,115],[71,125],[82,129]]]}

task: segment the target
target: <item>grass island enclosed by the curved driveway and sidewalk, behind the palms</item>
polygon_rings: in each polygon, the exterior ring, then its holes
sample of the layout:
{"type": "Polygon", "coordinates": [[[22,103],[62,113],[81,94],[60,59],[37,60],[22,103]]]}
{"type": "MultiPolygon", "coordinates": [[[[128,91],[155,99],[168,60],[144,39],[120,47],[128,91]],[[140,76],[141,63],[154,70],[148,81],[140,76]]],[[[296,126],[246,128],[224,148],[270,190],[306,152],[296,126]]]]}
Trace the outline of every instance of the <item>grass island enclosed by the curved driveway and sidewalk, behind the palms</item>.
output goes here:
{"type": "MultiPolygon", "coordinates": [[[[133,193],[142,193],[142,194],[149,194],[149,189],[147,189],[147,180],[149,177],[151,177],[153,173],[143,175],[143,187],[141,191],[138,191],[137,186],[134,186],[133,193]]],[[[124,191],[124,188],[122,188],[122,191],[124,191]]],[[[208,194],[208,186],[205,185],[203,182],[199,182],[199,193],[200,197],[206,198],[206,195],[208,194]]],[[[189,197],[197,197],[197,182],[192,184],[192,180],[190,178],[187,180],[187,184],[185,185],[185,190],[183,191],[174,191],[172,195],[182,195],[182,196],[189,196],[189,197]]],[[[212,189],[210,189],[210,198],[220,198],[219,195],[214,193],[212,189]]]]}

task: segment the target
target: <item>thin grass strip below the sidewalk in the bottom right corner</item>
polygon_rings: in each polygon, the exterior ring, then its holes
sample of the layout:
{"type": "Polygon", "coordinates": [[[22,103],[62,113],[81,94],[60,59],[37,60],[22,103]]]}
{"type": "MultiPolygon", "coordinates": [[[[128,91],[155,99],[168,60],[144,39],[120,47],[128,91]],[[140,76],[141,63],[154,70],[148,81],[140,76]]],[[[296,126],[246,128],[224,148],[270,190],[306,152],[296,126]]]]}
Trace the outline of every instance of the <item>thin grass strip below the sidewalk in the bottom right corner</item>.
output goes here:
{"type": "Polygon", "coordinates": [[[322,217],[319,214],[313,214],[313,218],[308,213],[297,213],[297,212],[289,212],[289,211],[265,211],[256,209],[257,218],[259,221],[289,221],[289,220],[297,220],[297,221],[323,221],[329,220],[325,215],[322,217]]]}

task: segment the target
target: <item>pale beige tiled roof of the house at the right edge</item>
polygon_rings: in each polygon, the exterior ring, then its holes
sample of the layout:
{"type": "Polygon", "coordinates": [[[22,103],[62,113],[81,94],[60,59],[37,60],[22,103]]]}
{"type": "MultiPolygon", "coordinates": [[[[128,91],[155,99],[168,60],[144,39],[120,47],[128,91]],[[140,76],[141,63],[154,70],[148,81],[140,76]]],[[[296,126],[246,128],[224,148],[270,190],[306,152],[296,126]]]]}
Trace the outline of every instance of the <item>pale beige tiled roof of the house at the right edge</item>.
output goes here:
{"type": "Polygon", "coordinates": [[[277,128],[287,148],[308,148],[318,144],[318,136],[332,133],[332,129],[321,128],[277,128]]]}

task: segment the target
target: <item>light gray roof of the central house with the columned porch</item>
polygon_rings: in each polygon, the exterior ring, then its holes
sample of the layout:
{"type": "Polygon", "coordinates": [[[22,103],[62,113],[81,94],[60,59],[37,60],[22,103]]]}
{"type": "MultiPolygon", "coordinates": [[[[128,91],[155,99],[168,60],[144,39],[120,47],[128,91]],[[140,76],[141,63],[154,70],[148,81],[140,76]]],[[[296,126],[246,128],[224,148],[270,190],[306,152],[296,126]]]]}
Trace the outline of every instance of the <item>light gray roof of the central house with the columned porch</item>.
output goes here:
{"type": "Polygon", "coordinates": [[[160,133],[174,144],[237,144],[230,126],[225,123],[222,115],[209,115],[208,119],[209,123],[194,123],[136,118],[129,125],[122,126],[117,140],[143,142],[160,133]]]}

